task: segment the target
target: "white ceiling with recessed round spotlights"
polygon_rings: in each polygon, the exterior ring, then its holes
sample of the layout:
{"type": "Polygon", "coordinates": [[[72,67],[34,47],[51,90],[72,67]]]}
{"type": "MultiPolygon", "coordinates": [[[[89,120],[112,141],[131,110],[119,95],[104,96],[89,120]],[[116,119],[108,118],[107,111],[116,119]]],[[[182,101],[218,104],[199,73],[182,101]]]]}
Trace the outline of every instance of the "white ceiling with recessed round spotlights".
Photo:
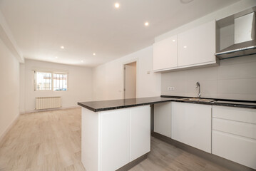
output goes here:
{"type": "Polygon", "coordinates": [[[238,0],[116,1],[0,0],[0,10],[25,58],[93,67],[150,46],[155,36],[238,0]]]}

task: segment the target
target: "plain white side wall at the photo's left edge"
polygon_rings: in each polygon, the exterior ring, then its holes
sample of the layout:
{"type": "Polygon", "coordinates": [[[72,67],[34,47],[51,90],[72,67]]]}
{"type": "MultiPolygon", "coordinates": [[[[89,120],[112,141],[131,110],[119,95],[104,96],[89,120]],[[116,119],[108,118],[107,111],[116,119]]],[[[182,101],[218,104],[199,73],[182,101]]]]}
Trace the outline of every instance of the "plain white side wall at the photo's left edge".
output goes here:
{"type": "Polygon", "coordinates": [[[19,61],[0,38],[0,140],[19,116],[19,61]]]}

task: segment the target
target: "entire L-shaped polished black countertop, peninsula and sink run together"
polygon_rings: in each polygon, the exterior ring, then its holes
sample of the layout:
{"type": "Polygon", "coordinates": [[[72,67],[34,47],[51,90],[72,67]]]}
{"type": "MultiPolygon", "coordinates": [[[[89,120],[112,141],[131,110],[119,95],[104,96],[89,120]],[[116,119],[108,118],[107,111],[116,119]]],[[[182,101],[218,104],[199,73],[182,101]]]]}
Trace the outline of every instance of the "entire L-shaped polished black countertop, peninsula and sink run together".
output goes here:
{"type": "MultiPolygon", "coordinates": [[[[193,98],[193,97],[161,95],[160,97],[150,97],[150,98],[130,98],[130,99],[120,99],[120,100],[79,102],[78,105],[81,105],[83,108],[87,108],[88,110],[92,110],[93,112],[99,112],[104,110],[114,110],[114,109],[120,109],[120,108],[130,108],[130,107],[135,107],[140,105],[152,105],[155,103],[164,103],[168,101],[256,109],[256,101],[250,101],[250,100],[227,100],[227,99],[211,98],[214,100],[213,102],[205,102],[205,101],[193,101],[193,100],[188,101],[188,100],[183,100],[183,98],[193,98]]],[[[208,99],[208,98],[205,98],[205,99],[208,99]]]]}

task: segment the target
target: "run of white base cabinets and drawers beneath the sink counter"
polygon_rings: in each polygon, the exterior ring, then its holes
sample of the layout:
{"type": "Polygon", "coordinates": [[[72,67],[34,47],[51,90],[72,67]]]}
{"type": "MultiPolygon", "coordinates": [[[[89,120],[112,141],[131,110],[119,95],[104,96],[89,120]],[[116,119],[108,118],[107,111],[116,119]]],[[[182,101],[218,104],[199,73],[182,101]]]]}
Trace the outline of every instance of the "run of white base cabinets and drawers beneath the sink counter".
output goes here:
{"type": "Polygon", "coordinates": [[[154,132],[256,170],[256,109],[155,104],[154,132]]]}

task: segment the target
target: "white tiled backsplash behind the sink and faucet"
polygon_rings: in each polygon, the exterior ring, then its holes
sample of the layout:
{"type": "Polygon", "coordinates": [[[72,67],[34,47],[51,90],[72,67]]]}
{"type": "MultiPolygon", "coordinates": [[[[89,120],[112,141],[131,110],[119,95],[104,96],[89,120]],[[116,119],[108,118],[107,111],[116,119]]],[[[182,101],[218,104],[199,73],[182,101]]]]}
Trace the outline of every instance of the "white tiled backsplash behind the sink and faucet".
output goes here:
{"type": "Polygon", "coordinates": [[[162,73],[162,95],[256,100],[256,55],[220,61],[220,66],[162,73]],[[168,90],[174,87],[174,90],[168,90]]]}

